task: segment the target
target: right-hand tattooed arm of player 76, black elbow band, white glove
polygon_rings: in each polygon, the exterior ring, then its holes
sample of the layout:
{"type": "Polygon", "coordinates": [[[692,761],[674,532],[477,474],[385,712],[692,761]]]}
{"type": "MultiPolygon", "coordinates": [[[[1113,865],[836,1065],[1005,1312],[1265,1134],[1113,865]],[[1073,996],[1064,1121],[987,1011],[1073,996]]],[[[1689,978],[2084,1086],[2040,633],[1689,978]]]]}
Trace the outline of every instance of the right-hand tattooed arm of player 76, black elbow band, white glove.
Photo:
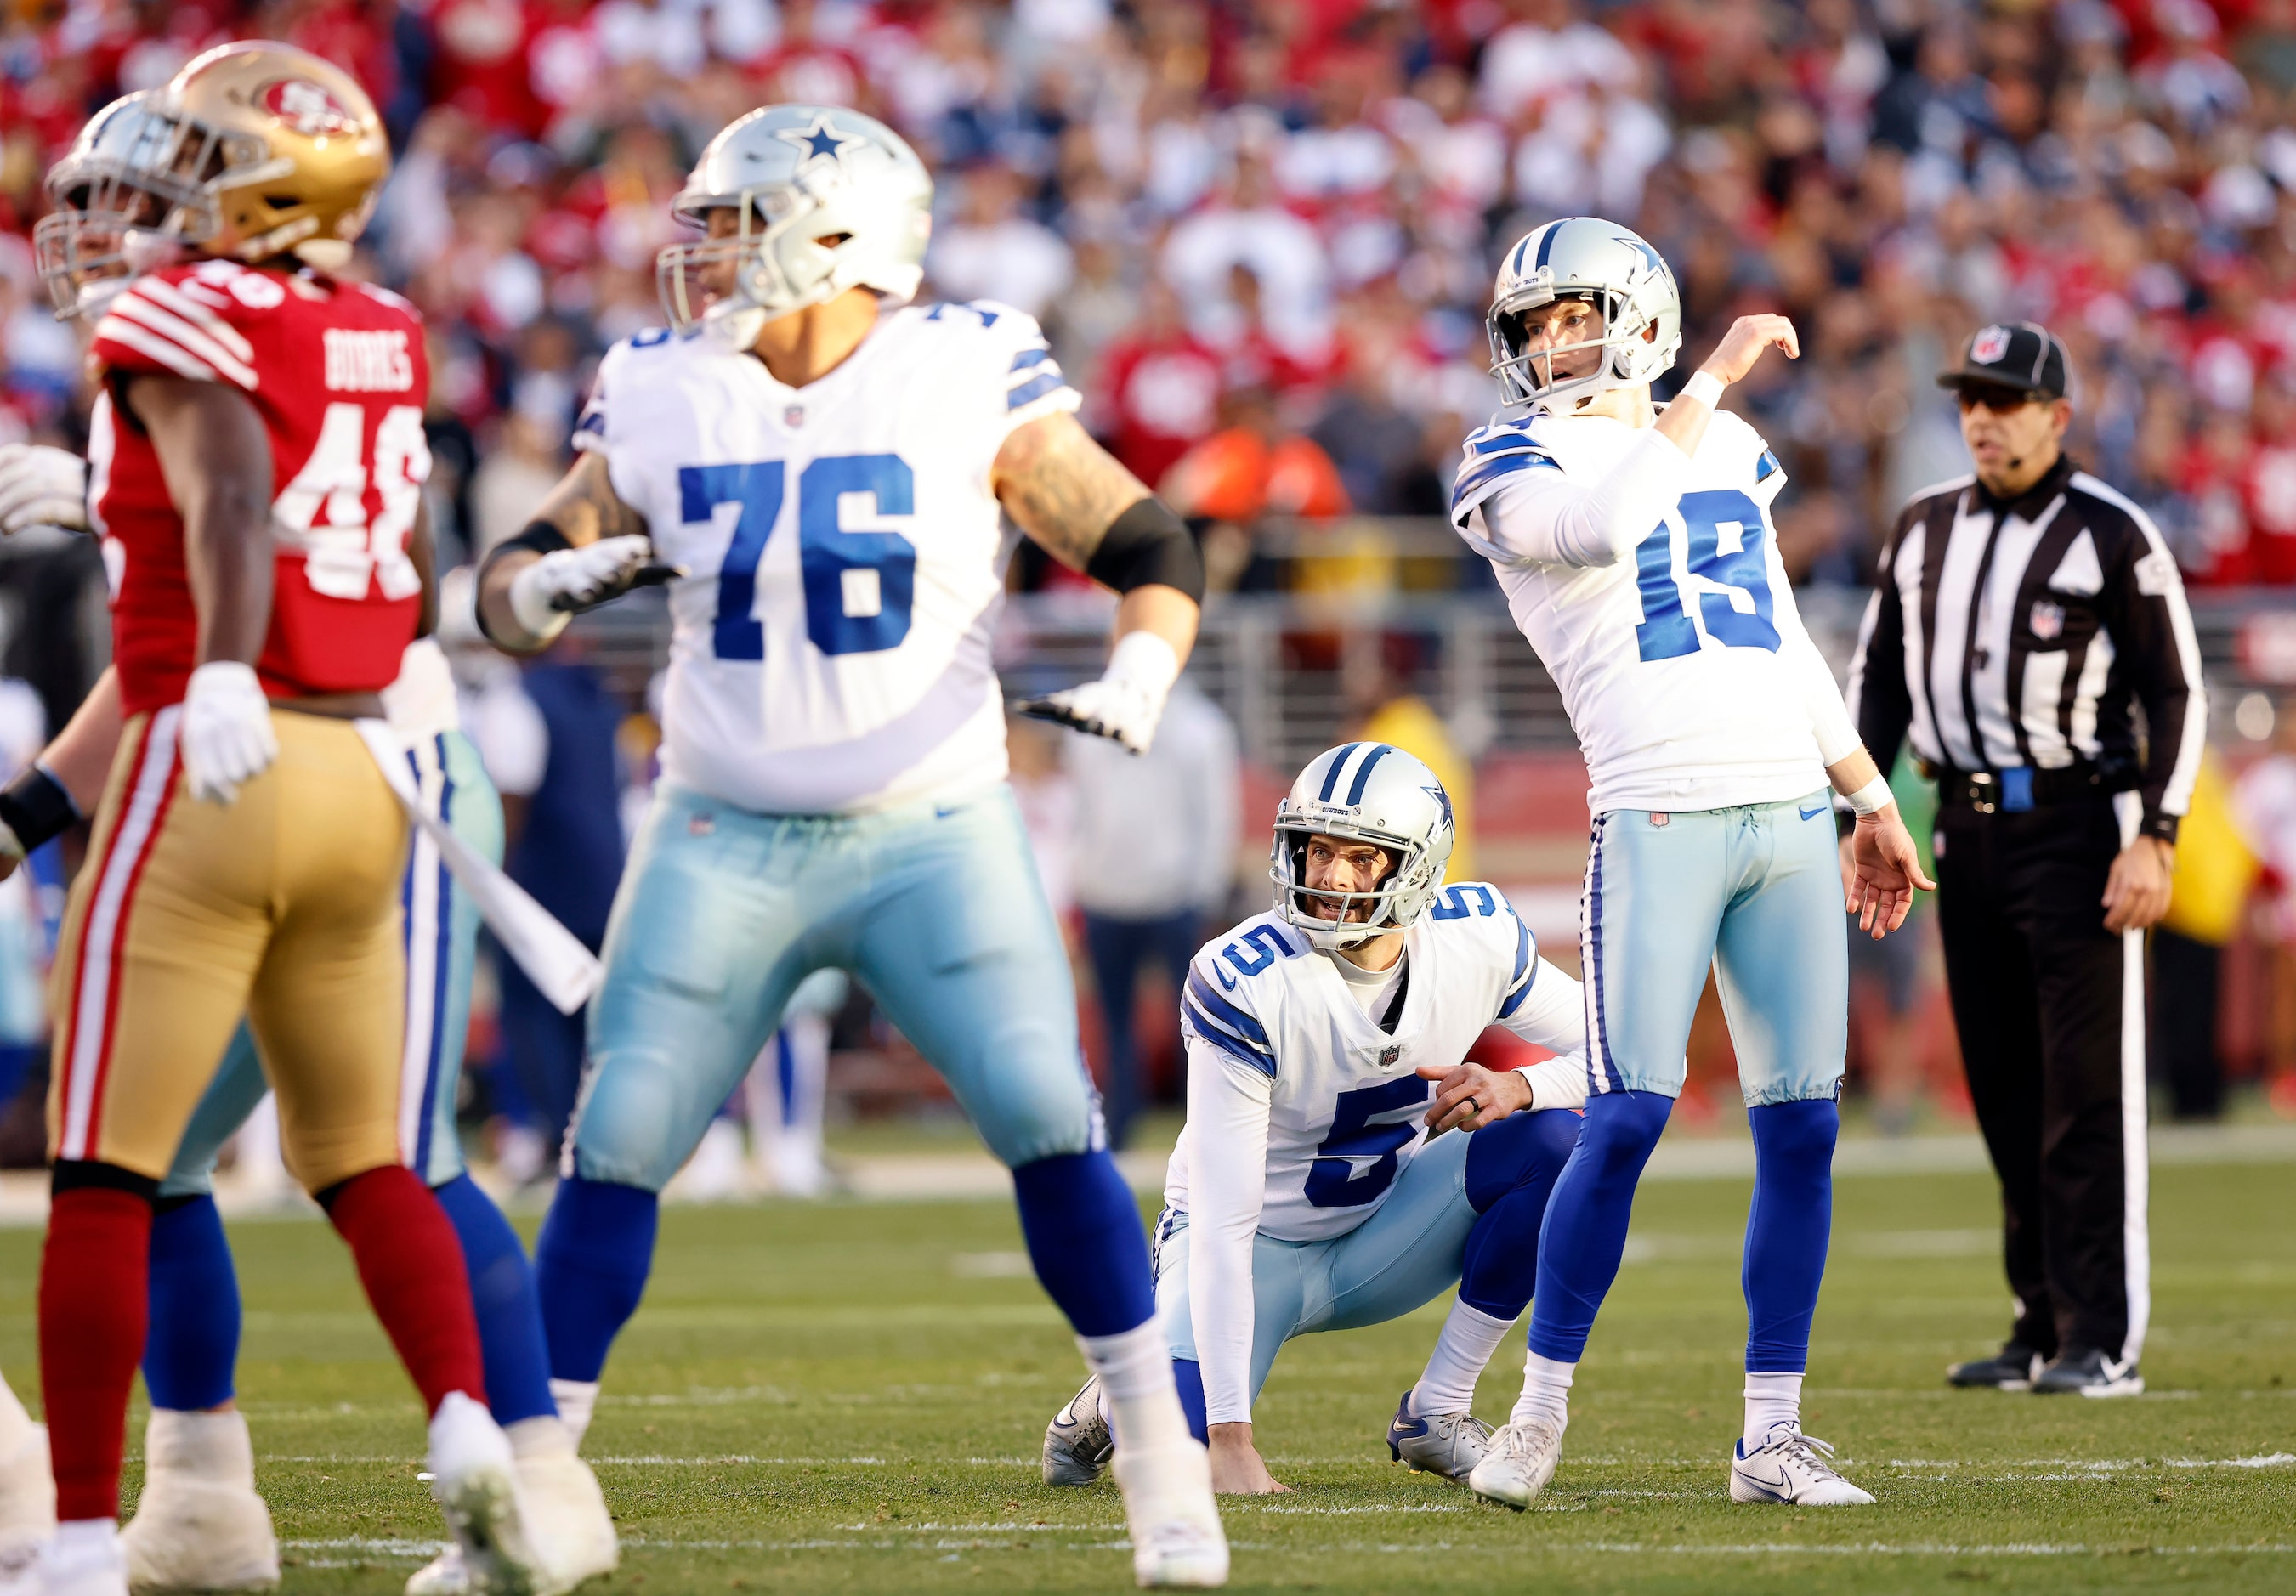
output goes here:
{"type": "Polygon", "coordinates": [[[1123,595],[1102,677],[1031,698],[1019,705],[1022,714],[1146,753],[1164,698],[1196,645],[1203,604],[1196,540],[1065,411],[1015,427],[996,450],[990,480],[1006,514],[1045,553],[1123,595]]]}

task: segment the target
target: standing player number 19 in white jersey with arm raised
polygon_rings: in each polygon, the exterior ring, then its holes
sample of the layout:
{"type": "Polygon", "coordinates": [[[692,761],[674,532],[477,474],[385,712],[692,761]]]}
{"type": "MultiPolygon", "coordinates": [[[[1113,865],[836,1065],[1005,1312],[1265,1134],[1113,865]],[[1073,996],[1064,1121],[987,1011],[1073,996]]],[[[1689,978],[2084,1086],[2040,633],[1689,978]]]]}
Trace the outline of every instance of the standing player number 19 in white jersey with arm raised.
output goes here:
{"type": "Polygon", "coordinates": [[[1591,1063],[1538,1258],[1525,1394],[1469,1483],[1525,1506],[1554,1474],[1573,1369],[1713,964],[1756,1155],[1731,1497],[1864,1504],[1800,1426],[1848,1033],[1841,902],[1880,937],[1929,882],[1793,609],[1768,510],[1784,471],[1717,409],[1763,349],[1798,354],[1793,324],[1738,319],[1655,411],[1651,379],[1681,347],[1674,273],[1593,216],[1515,243],[1488,324],[1492,374],[1531,413],[1467,439],[1451,519],[1497,567],[1587,753],[1591,1063]],[[1828,781],[1857,811],[1846,882],[1828,781]]]}

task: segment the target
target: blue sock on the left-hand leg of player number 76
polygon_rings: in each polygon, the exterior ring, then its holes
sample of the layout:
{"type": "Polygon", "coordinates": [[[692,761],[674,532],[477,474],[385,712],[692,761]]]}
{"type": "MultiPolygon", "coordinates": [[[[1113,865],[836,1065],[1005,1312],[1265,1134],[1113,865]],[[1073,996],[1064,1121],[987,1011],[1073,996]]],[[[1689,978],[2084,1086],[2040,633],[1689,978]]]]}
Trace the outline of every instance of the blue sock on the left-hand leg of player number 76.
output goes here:
{"type": "Polygon", "coordinates": [[[558,1183],[535,1242],[553,1378],[597,1380],[606,1366],[613,1339],[645,1295],[659,1208],[659,1196],[634,1185],[581,1176],[558,1183]]]}

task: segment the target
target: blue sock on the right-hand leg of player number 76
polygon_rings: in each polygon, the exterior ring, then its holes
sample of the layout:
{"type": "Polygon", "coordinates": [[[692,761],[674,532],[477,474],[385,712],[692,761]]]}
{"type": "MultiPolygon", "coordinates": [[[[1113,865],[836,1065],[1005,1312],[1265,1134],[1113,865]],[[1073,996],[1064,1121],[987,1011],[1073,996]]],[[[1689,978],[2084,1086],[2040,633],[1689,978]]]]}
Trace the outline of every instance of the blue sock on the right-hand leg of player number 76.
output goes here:
{"type": "Polygon", "coordinates": [[[1013,1196],[1035,1277],[1079,1337],[1118,1337],[1155,1318],[1148,1231],[1107,1148],[1022,1164],[1013,1196]]]}

